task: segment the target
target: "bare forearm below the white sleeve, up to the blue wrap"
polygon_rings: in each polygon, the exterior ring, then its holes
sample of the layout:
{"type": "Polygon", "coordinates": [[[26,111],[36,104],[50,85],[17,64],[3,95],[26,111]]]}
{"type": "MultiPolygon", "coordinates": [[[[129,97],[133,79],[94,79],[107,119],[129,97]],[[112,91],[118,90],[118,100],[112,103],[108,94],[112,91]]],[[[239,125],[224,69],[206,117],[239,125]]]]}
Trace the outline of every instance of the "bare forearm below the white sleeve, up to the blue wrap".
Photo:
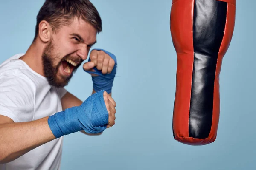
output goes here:
{"type": "Polygon", "coordinates": [[[32,122],[0,125],[0,163],[13,161],[55,139],[47,120],[45,117],[32,122]]]}

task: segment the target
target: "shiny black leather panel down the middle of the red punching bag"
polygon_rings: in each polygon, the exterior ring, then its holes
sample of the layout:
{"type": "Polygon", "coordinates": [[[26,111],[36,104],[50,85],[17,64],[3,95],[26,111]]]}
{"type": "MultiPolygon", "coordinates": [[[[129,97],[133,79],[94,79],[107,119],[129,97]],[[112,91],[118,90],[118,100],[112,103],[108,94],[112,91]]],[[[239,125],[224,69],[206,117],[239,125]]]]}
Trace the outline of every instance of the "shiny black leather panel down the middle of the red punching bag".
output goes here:
{"type": "Polygon", "coordinates": [[[224,36],[227,3],[195,0],[193,16],[194,68],[189,136],[204,139],[212,126],[213,88],[218,52],[224,36]]]}

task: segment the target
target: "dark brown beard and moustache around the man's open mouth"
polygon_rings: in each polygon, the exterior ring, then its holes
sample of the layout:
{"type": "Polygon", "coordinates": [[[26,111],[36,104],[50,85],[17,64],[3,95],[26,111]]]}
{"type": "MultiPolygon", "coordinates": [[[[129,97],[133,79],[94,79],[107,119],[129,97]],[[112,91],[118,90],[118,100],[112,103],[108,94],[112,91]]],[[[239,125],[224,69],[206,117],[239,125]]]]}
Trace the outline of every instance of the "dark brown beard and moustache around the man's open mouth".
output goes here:
{"type": "Polygon", "coordinates": [[[44,48],[44,51],[42,54],[44,75],[47,78],[49,85],[52,85],[58,88],[64,87],[68,84],[68,82],[73,76],[73,73],[76,72],[76,69],[81,65],[81,63],[73,69],[69,77],[58,75],[58,69],[61,66],[62,62],[65,61],[65,59],[68,59],[71,57],[70,55],[67,55],[60,60],[60,55],[54,54],[54,51],[55,51],[54,44],[52,43],[52,40],[50,40],[49,44],[44,48]],[[56,60],[60,60],[60,61],[58,62],[58,64],[54,65],[54,63],[56,63],[56,60]]]}

